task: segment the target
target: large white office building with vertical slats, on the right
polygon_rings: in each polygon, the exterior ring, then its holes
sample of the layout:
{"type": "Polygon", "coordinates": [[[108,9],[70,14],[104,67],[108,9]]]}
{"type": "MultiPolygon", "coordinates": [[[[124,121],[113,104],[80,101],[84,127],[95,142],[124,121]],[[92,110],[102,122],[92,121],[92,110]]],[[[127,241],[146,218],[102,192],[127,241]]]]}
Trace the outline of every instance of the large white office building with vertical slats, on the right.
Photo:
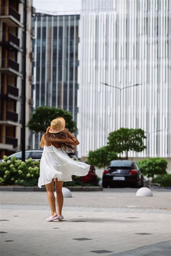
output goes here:
{"type": "Polygon", "coordinates": [[[147,149],[129,157],[171,157],[169,8],[168,0],[82,1],[79,157],[120,127],[146,132],[147,149]]]}

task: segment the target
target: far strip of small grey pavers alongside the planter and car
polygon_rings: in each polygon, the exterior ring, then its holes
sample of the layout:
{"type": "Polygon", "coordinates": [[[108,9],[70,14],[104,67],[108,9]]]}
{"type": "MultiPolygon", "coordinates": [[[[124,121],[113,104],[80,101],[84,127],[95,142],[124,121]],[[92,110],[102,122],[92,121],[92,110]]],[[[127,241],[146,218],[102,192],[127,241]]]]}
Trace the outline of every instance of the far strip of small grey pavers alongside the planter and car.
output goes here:
{"type": "MultiPolygon", "coordinates": [[[[152,197],[135,196],[137,188],[104,188],[104,191],[72,192],[64,206],[171,209],[171,190],[155,189],[152,197]]],[[[46,192],[0,191],[1,204],[48,205],[46,192]]]]}

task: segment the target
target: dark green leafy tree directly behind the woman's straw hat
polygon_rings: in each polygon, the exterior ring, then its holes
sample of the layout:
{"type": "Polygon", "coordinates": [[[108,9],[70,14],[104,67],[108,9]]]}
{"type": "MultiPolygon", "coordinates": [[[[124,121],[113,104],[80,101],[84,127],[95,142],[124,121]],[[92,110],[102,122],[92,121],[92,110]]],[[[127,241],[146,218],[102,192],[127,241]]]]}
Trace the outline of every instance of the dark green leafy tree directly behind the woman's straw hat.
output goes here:
{"type": "Polygon", "coordinates": [[[66,122],[66,128],[71,130],[73,133],[75,132],[76,122],[73,121],[73,117],[70,112],[48,106],[36,108],[27,126],[30,130],[33,130],[36,133],[44,133],[47,127],[51,125],[51,121],[57,117],[63,117],[66,122]]]}

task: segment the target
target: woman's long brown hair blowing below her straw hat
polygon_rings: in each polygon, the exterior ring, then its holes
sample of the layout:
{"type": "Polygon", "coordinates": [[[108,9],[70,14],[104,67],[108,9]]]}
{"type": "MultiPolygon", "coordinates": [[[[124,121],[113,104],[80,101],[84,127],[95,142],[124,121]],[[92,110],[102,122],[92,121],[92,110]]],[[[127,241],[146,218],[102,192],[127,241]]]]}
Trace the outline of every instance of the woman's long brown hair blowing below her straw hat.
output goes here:
{"type": "Polygon", "coordinates": [[[76,150],[76,146],[75,145],[71,145],[66,141],[66,138],[68,138],[66,133],[63,133],[62,131],[60,131],[59,133],[45,133],[44,134],[44,138],[45,140],[48,140],[50,142],[57,142],[58,144],[60,144],[61,149],[72,149],[72,150],[76,150]]]}

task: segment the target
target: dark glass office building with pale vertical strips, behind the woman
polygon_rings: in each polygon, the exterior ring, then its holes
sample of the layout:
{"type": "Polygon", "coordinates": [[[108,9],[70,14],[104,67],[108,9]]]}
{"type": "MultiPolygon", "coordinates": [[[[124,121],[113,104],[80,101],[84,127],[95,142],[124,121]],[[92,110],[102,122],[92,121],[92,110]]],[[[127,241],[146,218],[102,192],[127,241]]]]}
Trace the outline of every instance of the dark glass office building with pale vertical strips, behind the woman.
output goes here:
{"type": "MultiPolygon", "coordinates": [[[[36,13],[34,108],[52,106],[69,111],[77,121],[79,15],[36,13]]],[[[34,135],[35,148],[40,134],[34,135]]]]}

